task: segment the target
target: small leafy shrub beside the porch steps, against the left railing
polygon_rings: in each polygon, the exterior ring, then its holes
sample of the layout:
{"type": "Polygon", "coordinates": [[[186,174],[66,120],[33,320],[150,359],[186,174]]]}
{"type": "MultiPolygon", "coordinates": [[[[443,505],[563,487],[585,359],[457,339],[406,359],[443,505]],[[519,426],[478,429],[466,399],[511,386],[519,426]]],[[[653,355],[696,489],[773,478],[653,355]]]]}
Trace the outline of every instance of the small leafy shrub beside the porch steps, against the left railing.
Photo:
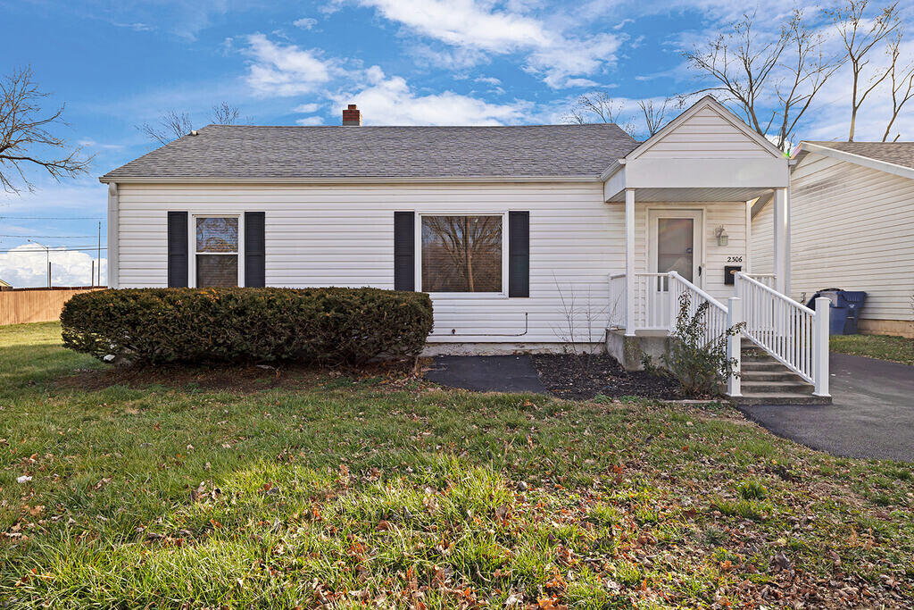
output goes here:
{"type": "Polygon", "coordinates": [[[717,396],[720,386],[734,374],[736,360],[727,358],[727,338],[739,335],[745,326],[731,326],[720,336],[707,339],[708,306],[703,301],[692,314],[689,294],[679,296],[672,345],[664,354],[666,369],[679,382],[683,394],[695,398],[717,396]]]}

